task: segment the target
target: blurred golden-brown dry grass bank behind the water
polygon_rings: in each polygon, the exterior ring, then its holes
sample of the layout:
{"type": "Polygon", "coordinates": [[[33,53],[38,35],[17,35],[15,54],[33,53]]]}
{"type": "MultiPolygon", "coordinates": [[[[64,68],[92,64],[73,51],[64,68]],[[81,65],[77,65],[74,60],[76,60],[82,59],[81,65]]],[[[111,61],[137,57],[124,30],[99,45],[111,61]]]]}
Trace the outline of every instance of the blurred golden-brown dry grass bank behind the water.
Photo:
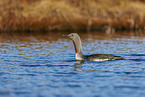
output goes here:
{"type": "Polygon", "coordinates": [[[143,0],[1,0],[1,31],[145,28],[143,0]]]}

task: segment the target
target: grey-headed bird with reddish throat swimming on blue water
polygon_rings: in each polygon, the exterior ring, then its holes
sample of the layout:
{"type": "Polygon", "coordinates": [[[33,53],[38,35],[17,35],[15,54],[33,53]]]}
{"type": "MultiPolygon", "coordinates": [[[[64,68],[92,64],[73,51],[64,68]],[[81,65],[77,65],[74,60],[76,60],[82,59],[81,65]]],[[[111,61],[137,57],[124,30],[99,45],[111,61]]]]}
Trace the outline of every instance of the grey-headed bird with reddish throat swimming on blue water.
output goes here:
{"type": "Polygon", "coordinates": [[[69,37],[74,44],[75,48],[75,59],[80,61],[108,61],[108,60],[121,60],[124,59],[121,56],[116,56],[112,54],[92,54],[84,55],[82,52],[81,38],[77,33],[70,33],[69,35],[64,35],[69,37]]]}

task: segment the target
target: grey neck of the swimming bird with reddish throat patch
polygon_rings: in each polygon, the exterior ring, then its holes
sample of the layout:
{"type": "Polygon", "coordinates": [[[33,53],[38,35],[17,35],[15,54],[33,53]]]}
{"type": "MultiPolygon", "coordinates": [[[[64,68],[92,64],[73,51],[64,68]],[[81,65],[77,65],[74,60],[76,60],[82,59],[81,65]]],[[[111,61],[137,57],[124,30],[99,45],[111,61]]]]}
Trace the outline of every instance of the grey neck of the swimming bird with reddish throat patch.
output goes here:
{"type": "Polygon", "coordinates": [[[76,52],[76,60],[83,60],[83,52],[82,52],[82,45],[81,45],[81,40],[78,37],[76,40],[73,40],[74,43],[74,48],[76,52]]]}

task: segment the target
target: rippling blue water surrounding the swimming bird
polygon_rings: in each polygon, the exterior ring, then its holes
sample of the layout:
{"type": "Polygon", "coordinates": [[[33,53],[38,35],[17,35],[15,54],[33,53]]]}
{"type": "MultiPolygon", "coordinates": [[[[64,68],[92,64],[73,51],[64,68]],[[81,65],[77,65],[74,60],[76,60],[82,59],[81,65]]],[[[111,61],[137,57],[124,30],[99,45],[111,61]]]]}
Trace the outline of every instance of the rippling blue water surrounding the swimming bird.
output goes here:
{"type": "Polygon", "coordinates": [[[0,97],[144,97],[145,34],[79,33],[84,54],[125,60],[75,61],[68,33],[1,33],[0,97]]]}

